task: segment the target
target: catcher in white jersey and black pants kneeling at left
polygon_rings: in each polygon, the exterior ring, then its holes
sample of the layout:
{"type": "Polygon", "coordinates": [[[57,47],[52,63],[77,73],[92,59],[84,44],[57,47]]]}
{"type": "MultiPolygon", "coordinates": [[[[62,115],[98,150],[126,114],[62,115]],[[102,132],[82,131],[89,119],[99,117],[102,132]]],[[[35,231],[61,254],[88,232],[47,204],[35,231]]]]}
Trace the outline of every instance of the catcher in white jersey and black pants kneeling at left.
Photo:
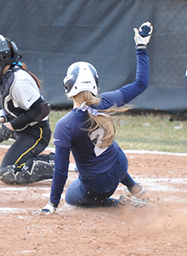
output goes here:
{"type": "Polygon", "coordinates": [[[0,180],[10,184],[34,183],[54,172],[54,154],[40,154],[51,137],[50,105],[20,58],[16,44],[0,35],[0,143],[15,139],[1,163],[0,180]]]}

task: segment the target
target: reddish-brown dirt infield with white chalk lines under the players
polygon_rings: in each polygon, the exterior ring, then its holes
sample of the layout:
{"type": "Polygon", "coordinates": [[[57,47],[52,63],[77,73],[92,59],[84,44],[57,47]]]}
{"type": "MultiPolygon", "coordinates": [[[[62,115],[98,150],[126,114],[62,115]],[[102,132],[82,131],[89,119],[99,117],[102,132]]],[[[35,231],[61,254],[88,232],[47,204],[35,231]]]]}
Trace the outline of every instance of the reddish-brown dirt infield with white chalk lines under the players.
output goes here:
{"type": "MultiPolygon", "coordinates": [[[[6,149],[0,150],[3,157],[6,149]]],[[[153,207],[71,207],[64,191],[58,211],[42,215],[51,180],[0,182],[0,255],[187,255],[187,156],[127,153],[127,159],[153,207]]],[[[65,189],[76,177],[69,172],[65,189]]],[[[114,197],[122,193],[119,185],[114,197]]]]}

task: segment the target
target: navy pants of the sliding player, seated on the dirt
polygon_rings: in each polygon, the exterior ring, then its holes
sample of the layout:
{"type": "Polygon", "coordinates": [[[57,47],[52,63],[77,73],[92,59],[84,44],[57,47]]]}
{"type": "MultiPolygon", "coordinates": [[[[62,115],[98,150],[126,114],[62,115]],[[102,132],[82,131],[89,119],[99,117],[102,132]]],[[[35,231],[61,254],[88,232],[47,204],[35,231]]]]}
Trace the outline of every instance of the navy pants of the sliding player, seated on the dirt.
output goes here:
{"type": "Polygon", "coordinates": [[[127,172],[127,158],[121,151],[113,168],[93,178],[79,177],[71,183],[65,193],[69,204],[102,204],[115,192],[127,172]]]}

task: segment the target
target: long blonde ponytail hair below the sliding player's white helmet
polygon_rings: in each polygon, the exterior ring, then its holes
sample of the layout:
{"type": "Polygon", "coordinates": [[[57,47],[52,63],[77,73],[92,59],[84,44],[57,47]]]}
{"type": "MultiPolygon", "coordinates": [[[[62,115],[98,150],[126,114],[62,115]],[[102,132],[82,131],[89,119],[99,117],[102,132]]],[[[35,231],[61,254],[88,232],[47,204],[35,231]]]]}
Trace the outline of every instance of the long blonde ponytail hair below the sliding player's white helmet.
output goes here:
{"type": "MultiPolygon", "coordinates": [[[[73,98],[78,102],[79,104],[82,104],[83,102],[86,102],[85,104],[87,106],[92,105],[98,105],[100,102],[100,98],[94,96],[90,91],[85,90],[77,94],[77,96],[73,96],[73,98]]],[[[99,148],[107,148],[109,147],[115,139],[116,136],[116,125],[118,125],[118,128],[120,128],[119,121],[113,116],[116,113],[123,113],[130,109],[130,106],[122,106],[120,108],[117,108],[116,106],[113,106],[111,108],[107,108],[105,110],[97,110],[98,114],[94,116],[92,113],[88,111],[88,128],[84,129],[88,131],[88,136],[91,135],[92,131],[101,128],[104,131],[104,135],[102,138],[100,138],[100,143],[97,144],[99,148]],[[102,114],[104,113],[104,114],[102,114]]]]}

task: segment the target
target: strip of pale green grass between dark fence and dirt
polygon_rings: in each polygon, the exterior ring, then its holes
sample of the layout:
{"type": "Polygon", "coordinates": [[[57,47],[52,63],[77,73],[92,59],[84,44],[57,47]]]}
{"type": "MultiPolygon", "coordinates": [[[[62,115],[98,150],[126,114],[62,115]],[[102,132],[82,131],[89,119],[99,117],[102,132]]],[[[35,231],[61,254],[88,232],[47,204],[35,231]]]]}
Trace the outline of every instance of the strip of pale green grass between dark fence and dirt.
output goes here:
{"type": "MultiPolygon", "coordinates": [[[[54,147],[54,127],[67,111],[49,114],[52,137],[49,147],[54,147]]],[[[173,120],[170,115],[116,115],[121,124],[116,134],[116,142],[123,150],[150,150],[172,153],[187,153],[187,121],[173,120]]],[[[116,126],[117,128],[117,126],[116,126]]],[[[4,144],[8,144],[5,142],[4,144]]]]}

